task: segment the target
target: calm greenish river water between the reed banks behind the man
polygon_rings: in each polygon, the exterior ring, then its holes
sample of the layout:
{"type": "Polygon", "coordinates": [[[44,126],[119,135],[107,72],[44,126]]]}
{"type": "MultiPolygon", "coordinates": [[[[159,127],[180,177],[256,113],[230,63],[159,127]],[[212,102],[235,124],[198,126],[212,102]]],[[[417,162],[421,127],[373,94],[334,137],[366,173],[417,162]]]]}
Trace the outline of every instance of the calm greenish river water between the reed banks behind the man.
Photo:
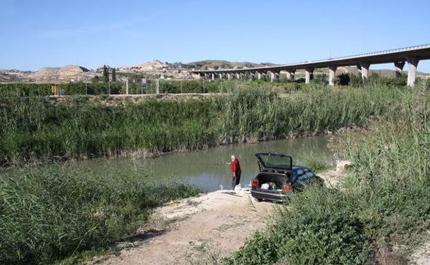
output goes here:
{"type": "Polygon", "coordinates": [[[240,143],[198,151],[170,153],[156,158],[100,158],[74,161],[71,164],[76,167],[87,167],[96,172],[137,169],[146,173],[148,180],[182,180],[196,184],[205,191],[214,191],[220,189],[220,185],[223,185],[224,189],[231,189],[232,173],[230,167],[225,165],[225,162],[230,160],[232,154],[238,158],[242,168],[240,183],[242,185],[249,184],[249,180],[258,173],[258,164],[254,156],[258,151],[281,151],[287,153],[293,157],[295,165],[300,165],[300,161],[309,152],[323,156],[328,161],[333,160],[327,147],[327,138],[311,137],[274,140],[255,144],[240,143]]]}

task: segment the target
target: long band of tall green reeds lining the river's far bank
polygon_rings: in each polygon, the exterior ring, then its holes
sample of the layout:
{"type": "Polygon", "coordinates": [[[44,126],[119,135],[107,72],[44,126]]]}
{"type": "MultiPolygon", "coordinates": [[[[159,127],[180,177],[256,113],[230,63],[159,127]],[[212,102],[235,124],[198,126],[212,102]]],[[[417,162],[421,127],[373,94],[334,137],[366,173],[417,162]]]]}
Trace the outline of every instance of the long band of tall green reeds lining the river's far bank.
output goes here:
{"type": "Polygon", "coordinates": [[[397,89],[305,89],[280,98],[262,89],[193,100],[121,104],[67,98],[0,98],[0,165],[63,158],[197,149],[228,142],[315,134],[383,115],[397,89]]]}

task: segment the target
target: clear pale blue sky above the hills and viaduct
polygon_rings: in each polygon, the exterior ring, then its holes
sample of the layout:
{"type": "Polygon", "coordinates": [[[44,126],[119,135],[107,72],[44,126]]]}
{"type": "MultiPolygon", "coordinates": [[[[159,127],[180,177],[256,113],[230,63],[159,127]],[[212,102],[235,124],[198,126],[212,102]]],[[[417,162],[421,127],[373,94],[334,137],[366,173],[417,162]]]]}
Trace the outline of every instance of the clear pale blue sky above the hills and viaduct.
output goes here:
{"type": "Polygon", "coordinates": [[[0,69],[311,61],[430,43],[429,10],[429,0],[0,0],[0,69]]]}

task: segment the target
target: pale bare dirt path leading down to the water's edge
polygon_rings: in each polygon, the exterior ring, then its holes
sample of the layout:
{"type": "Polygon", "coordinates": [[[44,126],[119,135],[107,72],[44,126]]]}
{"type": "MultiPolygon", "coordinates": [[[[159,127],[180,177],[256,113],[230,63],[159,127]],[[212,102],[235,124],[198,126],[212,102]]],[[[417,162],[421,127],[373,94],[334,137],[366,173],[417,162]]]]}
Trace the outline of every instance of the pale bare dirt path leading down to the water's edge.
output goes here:
{"type": "Polygon", "coordinates": [[[215,191],[173,202],[157,209],[152,224],[130,242],[119,245],[119,256],[101,264],[204,264],[238,250],[271,222],[276,207],[255,202],[249,191],[215,191]]]}

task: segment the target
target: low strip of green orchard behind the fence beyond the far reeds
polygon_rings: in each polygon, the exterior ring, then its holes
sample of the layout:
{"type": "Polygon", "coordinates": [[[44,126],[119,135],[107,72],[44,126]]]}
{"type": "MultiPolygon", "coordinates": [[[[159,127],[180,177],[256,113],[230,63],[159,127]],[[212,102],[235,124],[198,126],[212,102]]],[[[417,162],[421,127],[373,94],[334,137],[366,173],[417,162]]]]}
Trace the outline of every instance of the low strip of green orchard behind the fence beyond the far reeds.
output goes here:
{"type": "MultiPolygon", "coordinates": [[[[143,84],[142,78],[133,78],[129,82],[129,94],[155,94],[156,79],[149,78],[143,84]]],[[[0,96],[49,96],[53,83],[0,83],[0,96]]],[[[95,83],[59,83],[57,89],[62,95],[107,95],[125,94],[125,82],[95,82],[95,83]]],[[[274,90],[278,93],[298,92],[308,87],[305,83],[272,83],[268,81],[214,81],[203,80],[158,80],[158,90],[162,94],[179,93],[227,93],[237,87],[256,87],[274,90]]]]}

